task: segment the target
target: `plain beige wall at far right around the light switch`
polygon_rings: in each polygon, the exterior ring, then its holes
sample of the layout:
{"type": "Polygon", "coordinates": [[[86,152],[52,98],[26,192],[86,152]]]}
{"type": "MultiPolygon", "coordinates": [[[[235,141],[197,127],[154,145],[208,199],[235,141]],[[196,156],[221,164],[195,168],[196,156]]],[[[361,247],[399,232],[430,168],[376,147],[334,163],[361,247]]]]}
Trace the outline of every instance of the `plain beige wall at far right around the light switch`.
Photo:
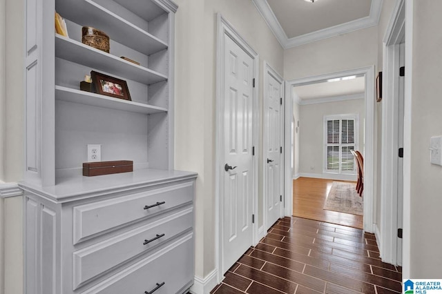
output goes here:
{"type": "Polygon", "coordinates": [[[442,19],[438,13],[440,11],[442,11],[442,1],[414,1],[410,150],[411,228],[410,232],[404,232],[411,236],[410,277],[413,278],[442,277],[440,246],[442,166],[430,164],[428,150],[430,137],[442,135],[440,52],[442,19]]]}

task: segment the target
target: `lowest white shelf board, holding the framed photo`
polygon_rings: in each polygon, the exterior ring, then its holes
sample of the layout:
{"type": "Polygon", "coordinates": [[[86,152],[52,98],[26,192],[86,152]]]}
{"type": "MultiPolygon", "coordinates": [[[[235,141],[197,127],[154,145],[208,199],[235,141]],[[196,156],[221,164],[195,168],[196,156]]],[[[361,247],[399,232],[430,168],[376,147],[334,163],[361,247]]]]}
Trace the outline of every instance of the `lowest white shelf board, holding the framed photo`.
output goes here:
{"type": "Polygon", "coordinates": [[[116,110],[144,113],[147,115],[167,112],[166,108],[75,90],[64,86],[55,86],[55,99],[116,110]]]}

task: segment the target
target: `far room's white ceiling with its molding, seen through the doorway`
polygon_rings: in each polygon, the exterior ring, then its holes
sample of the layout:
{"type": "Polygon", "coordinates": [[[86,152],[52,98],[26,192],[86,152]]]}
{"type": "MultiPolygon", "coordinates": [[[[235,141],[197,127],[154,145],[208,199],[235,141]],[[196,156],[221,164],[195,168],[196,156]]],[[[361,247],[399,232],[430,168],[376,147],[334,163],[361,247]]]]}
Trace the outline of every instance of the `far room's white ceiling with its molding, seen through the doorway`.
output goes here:
{"type": "Polygon", "coordinates": [[[294,87],[294,92],[300,99],[300,104],[338,101],[348,99],[363,99],[365,92],[365,77],[344,81],[321,82],[294,87]]]}

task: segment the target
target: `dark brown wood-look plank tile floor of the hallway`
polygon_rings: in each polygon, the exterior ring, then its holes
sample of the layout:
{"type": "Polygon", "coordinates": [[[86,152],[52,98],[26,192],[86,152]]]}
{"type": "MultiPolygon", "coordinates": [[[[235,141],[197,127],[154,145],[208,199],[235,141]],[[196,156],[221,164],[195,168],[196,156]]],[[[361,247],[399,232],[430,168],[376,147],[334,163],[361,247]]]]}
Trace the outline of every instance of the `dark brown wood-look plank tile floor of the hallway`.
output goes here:
{"type": "Polygon", "coordinates": [[[242,255],[211,293],[401,293],[401,268],[357,228],[285,217],[242,255]]]}

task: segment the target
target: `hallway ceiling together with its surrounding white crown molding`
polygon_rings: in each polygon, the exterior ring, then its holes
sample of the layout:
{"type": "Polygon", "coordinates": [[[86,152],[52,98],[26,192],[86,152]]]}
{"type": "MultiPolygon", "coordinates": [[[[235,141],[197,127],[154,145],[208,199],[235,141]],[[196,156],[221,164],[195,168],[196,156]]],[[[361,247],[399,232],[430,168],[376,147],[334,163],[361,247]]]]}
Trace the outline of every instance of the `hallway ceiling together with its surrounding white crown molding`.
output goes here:
{"type": "Polygon", "coordinates": [[[383,0],[252,0],[285,49],[376,26],[383,0]]]}

